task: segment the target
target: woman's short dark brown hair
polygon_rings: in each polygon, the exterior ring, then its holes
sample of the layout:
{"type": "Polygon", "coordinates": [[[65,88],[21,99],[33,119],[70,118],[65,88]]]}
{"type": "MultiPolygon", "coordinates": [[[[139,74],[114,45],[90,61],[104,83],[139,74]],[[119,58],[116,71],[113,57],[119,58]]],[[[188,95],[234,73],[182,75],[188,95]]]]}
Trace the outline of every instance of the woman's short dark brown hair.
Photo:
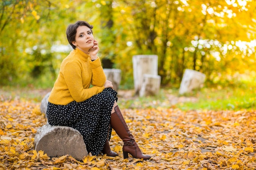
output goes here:
{"type": "Polygon", "coordinates": [[[69,26],[67,26],[67,31],[66,31],[67,41],[70,43],[73,49],[76,49],[76,46],[74,46],[72,42],[76,40],[76,29],[79,26],[87,26],[90,28],[91,31],[93,28],[93,26],[86,21],[77,21],[75,24],[70,24],[69,26]]]}

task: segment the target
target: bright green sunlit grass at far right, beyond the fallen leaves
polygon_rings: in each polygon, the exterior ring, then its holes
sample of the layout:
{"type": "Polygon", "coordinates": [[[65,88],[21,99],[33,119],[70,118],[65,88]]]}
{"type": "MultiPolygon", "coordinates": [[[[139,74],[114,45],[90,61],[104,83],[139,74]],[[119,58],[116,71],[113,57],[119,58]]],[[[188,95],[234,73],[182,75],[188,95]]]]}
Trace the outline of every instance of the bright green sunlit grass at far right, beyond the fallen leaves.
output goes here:
{"type": "MultiPolygon", "coordinates": [[[[182,110],[240,110],[256,108],[255,87],[203,88],[196,93],[197,102],[177,104],[182,110]]],[[[193,94],[195,96],[195,94],[193,94]]]]}

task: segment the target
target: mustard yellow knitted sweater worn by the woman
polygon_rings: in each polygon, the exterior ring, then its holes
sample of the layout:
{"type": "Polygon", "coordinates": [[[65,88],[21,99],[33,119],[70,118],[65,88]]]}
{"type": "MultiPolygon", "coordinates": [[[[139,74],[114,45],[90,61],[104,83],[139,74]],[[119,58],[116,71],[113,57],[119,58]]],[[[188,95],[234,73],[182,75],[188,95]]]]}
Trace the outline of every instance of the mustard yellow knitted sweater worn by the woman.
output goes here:
{"type": "Polygon", "coordinates": [[[67,105],[73,101],[83,102],[101,93],[105,82],[106,75],[99,57],[92,62],[88,54],[74,49],[61,63],[48,101],[57,105],[67,105]]]}

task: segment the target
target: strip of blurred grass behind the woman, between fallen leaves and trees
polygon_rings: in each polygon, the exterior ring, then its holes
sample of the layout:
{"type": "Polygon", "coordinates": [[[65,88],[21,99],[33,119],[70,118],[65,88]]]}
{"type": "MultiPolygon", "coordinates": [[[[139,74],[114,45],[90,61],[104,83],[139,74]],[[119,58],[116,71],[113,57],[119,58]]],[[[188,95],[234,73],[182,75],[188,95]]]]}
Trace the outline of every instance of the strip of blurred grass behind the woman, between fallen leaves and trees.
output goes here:
{"type": "MultiPolygon", "coordinates": [[[[40,102],[51,88],[33,86],[0,87],[0,101],[25,99],[40,102]]],[[[177,88],[163,88],[157,96],[138,97],[133,90],[119,90],[127,96],[118,99],[121,108],[180,108],[181,110],[241,110],[256,109],[256,86],[202,88],[179,95],[177,88]]],[[[119,93],[120,94],[120,93],[119,93]]]]}

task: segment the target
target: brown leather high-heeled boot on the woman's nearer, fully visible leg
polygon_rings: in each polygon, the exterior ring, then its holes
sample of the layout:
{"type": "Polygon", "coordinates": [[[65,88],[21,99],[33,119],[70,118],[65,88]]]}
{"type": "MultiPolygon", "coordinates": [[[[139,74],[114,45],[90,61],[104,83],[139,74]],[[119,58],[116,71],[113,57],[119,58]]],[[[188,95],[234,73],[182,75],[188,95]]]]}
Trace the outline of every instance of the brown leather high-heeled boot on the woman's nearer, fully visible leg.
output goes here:
{"type": "Polygon", "coordinates": [[[115,112],[111,114],[110,125],[116,131],[117,135],[123,140],[124,159],[128,158],[128,153],[134,158],[150,159],[150,155],[144,155],[137,145],[134,137],[124,120],[124,117],[118,106],[115,106],[115,112]]]}

